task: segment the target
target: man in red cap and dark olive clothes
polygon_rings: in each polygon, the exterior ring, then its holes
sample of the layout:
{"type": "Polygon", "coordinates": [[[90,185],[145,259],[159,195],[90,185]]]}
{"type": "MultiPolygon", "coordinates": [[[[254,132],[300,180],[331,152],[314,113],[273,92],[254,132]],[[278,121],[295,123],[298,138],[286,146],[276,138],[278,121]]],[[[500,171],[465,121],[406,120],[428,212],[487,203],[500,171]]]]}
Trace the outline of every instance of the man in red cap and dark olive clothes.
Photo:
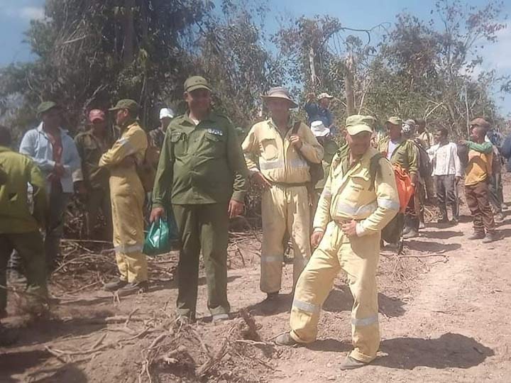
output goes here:
{"type": "Polygon", "coordinates": [[[104,111],[89,112],[90,128],[75,137],[82,166],[73,173],[73,182],[79,196],[86,203],[87,238],[94,238],[94,228],[101,211],[106,221],[104,239],[111,240],[112,221],[110,207],[109,171],[98,162],[114,143],[109,134],[104,111]]]}

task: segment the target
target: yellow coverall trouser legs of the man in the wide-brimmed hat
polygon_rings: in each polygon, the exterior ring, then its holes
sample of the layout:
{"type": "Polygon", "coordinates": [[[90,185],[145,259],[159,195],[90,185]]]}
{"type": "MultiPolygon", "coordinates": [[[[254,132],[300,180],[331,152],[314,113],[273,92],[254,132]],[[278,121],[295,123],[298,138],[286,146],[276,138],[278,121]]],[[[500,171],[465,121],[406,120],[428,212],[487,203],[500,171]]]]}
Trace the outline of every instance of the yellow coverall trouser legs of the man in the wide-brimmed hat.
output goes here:
{"type": "Polygon", "coordinates": [[[261,250],[260,289],[279,292],[282,284],[284,238],[291,238],[293,248],[293,282],[310,257],[310,206],[307,187],[273,185],[262,199],[263,246],[261,250]]]}

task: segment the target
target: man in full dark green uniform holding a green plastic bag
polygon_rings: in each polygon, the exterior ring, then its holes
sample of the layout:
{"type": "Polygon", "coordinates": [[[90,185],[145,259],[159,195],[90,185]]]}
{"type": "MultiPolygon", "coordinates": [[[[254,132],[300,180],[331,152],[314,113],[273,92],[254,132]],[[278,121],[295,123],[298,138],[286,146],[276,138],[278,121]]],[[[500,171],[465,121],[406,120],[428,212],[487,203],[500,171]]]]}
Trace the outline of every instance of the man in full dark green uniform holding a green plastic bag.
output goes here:
{"type": "Polygon", "coordinates": [[[248,170],[229,118],[211,111],[206,79],[185,82],[189,111],[167,128],[153,189],[150,221],[172,209],[181,237],[177,315],[195,319],[199,252],[214,321],[229,318],[227,244],[229,218],[243,212],[248,170]]]}

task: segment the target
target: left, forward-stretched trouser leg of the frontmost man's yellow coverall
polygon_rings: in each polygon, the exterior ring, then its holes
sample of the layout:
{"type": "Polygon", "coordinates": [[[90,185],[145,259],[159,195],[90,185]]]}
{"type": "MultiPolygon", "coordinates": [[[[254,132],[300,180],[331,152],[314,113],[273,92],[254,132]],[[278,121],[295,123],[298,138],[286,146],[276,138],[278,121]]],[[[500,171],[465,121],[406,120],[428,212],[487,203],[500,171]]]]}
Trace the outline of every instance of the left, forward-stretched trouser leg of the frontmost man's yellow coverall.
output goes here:
{"type": "Polygon", "coordinates": [[[297,342],[316,340],[321,307],[341,269],[337,257],[339,238],[339,227],[329,223],[322,242],[298,278],[290,317],[291,336],[297,342]]]}

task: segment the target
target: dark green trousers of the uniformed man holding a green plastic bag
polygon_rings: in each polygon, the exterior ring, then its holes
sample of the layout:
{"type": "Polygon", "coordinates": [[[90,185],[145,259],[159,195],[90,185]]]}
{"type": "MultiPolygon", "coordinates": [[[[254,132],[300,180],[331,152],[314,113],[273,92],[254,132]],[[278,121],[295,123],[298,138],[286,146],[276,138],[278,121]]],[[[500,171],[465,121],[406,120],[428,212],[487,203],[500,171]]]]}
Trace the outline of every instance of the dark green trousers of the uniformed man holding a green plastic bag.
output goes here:
{"type": "Polygon", "coordinates": [[[172,205],[180,231],[181,250],[177,265],[177,315],[195,318],[202,250],[212,315],[229,313],[227,301],[227,204],[172,205]]]}

